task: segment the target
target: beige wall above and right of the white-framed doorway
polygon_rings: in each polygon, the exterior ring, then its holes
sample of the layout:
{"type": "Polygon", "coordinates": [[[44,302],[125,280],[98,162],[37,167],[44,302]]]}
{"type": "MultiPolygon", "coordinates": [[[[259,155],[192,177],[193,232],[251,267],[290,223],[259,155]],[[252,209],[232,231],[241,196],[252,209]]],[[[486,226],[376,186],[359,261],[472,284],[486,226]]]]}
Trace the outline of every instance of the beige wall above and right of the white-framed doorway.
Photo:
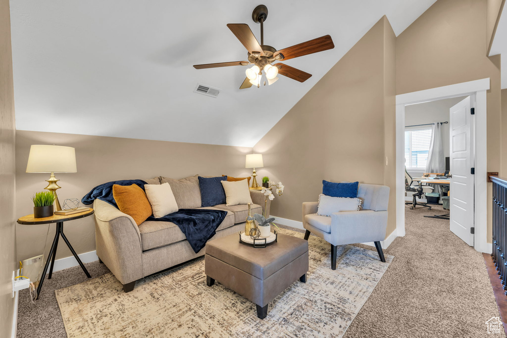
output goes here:
{"type": "Polygon", "coordinates": [[[486,0],[437,1],[396,39],[396,94],[490,78],[487,169],[501,172],[500,55],[486,56],[487,26],[486,0]]]}

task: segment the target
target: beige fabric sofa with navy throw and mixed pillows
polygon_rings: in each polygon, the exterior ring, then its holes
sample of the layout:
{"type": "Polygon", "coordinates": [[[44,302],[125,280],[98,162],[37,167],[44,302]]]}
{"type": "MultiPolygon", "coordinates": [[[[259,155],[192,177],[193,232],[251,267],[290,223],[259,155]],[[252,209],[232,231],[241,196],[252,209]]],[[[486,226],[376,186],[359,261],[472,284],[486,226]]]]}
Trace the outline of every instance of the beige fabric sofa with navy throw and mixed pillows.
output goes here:
{"type": "MultiPolygon", "coordinates": [[[[238,233],[244,229],[248,205],[225,204],[201,208],[199,181],[196,176],[175,180],[156,177],[148,184],[168,182],[180,209],[219,209],[227,211],[212,239],[238,233]]],[[[203,176],[212,177],[212,176],[203,176]]],[[[252,214],[262,213],[265,196],[250,190],[252,214]]],[[[269,215],[270,201],[266,214],[269,215]]],[[[97,255],[123,284],[125,292],[134,289],[135,282],[190,259],[204,255],[205,248],[195,253],[185,235],[172,222],[144,221],[136,225],[133,218],[101,200],[93,203],[95,209],[95,240],[97,255]]]]}

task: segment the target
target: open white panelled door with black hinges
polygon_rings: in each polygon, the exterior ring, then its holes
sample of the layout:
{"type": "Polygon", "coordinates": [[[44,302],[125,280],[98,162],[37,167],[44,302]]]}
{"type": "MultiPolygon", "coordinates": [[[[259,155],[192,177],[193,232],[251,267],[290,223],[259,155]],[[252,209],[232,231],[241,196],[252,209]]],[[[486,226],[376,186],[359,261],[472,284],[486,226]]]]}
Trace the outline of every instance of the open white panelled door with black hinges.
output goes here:
{"type": "Polygon", "coordinates": [[[450,228],[466,244],[474,245],[474,115],[470,96],[450,109],[450,228]]]}

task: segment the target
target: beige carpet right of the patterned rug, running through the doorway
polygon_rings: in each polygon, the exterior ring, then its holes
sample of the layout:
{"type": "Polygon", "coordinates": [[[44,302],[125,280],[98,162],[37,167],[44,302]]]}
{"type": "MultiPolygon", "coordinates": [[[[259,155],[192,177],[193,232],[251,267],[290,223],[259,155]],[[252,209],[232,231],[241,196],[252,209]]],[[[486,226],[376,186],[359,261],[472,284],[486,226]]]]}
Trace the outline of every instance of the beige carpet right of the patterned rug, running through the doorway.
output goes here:
{"type": "Polygon", "coordinates": [[[396,258],[344,338],[505,336],[487,333],[499,313],[482,254],[423,217],[445,212],[406,208],[406,235],[386,250],[396,258]]]}

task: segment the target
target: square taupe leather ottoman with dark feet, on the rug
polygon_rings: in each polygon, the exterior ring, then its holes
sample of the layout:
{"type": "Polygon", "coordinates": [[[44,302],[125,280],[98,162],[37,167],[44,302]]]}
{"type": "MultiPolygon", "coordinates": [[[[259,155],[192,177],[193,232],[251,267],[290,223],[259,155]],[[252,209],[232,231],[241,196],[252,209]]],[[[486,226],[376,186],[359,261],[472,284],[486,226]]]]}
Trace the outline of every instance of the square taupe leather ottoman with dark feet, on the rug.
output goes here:
{"type": "Polygon", "coordinates": [[[207,285],[215,280],[257,305],[264,319],[268,303],[298,278],[306,282],[308,242],[278,234],[278,241],[266,248],[239,243],[237,234],[206,243],[204,256],[207,285]]]}

